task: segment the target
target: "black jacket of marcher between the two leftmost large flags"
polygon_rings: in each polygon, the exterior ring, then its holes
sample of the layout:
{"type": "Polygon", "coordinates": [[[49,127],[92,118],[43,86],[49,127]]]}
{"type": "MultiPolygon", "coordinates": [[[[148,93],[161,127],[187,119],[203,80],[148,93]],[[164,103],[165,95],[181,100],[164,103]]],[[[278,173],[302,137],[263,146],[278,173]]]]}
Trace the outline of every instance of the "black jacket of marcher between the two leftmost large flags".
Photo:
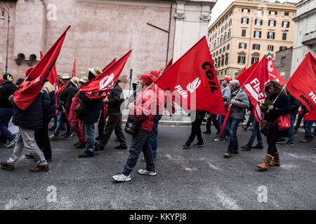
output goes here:
{"type": "Polygon", "coordinates": [[[72,99],[74,98],[74,95],[77,93],[77,91],[78,88],[75,87],[72,83],[69,83],[65,90],[58,94],[56,109],[58,109],[58,111],[62,111],[62,106],[64,106],[65,110],[69,114],[72,99]]]}

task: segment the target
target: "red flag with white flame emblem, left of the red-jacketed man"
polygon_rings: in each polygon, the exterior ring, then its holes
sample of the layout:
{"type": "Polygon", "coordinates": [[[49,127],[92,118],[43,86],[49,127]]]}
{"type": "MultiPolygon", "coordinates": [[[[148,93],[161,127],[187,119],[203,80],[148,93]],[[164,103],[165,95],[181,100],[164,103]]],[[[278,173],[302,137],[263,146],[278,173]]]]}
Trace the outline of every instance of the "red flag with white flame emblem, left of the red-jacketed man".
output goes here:
{"type": "Polygon", "coordinates": [[[90,99],[98,99],[107,97],[117,83],[117,79],[123,70],[127,59],[131,55],[131,50],[121,57],[115,64],[109,69],[106,69],[102,74],[96,76],[89,83],[81,87],[79,92],[84,92],[86,97],[90,99]]]}

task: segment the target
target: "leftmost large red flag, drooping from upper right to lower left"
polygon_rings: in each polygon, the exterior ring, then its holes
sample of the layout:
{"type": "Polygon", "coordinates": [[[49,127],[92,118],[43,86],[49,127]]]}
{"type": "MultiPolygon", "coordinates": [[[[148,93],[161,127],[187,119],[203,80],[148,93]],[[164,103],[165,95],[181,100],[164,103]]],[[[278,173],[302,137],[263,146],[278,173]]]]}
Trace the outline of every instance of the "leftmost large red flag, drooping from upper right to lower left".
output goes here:
{"type": "Polygon", "coordinates": [[[51,72],[58,58],[68,29],[70,29],[70,26],[67,27],[60,38],[58,38],[39,63],[37,63],[34,69],[29,73],[27,79],[19,86],[19,89],[15,91],[13,100],[18,108],[22,110],[27,109],[41,91],[44,80],[51,72]]]}

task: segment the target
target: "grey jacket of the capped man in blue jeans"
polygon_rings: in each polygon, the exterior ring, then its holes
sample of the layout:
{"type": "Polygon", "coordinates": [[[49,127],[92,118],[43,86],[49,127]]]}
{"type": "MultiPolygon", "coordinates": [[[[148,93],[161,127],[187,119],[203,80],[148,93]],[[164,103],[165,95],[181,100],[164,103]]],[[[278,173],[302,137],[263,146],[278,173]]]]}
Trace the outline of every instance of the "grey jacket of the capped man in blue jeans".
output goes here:
{"type": "MultiPolygon", "coordinates": [[[[235,98],[240,88],[231,93],[230,97],[235,98]]],[[[235,104],[232,104],[230,109],[230,118],[242,119],[244,118],[244,110],[249,109],[249,98],[246,92],[242,90],[237,98],[235,98],[235,104]]]]}

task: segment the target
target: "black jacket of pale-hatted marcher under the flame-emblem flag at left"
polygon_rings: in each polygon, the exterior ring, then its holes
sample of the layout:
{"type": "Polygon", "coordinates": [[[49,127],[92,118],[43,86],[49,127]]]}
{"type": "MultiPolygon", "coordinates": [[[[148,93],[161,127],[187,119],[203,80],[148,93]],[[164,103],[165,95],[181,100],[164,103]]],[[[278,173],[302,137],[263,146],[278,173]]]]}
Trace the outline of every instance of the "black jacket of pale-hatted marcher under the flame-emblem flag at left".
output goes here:
{"type": "Polygon", "coordinates": [[[96,123],[100,117],[100,111],[103,108],[102,99],[89,99],[82,92],[78,94],[79,99],[85,105],[78,118],[85,123],[96,123]]]}

